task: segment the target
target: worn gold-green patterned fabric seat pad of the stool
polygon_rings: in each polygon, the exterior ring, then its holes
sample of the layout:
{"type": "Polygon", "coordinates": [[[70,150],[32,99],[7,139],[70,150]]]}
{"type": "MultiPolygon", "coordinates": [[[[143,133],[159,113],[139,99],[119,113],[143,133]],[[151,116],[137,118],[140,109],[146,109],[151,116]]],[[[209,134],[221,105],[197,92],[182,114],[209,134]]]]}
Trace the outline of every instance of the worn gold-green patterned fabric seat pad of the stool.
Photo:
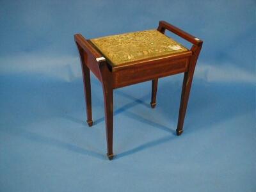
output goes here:
{"type": "Polygon", "coordinates": [[[90,41],[113,66],[188,51],[156,29],[104,36],[90,41]]]}

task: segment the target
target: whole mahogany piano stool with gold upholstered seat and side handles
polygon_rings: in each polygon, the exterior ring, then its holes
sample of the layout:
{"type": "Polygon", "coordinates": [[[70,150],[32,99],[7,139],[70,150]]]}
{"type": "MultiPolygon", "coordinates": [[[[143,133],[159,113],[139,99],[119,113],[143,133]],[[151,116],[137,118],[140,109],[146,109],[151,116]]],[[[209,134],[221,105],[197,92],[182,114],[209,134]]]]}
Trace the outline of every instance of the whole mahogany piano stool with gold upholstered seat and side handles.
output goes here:
{"type": "Polygon", "coordinates": [[[90,70],[102,83],[109,160],[113,159],[114,156],[113,89],[151,80],[150,105],[155,108],[158,79],[184,72],[179,120],[176,129],[177,135],[182,134],[189,92],[196,61],[202,48],[202,40],[165,21],[160,21],[157,29],[91,40],[86,40],[81,34],[74,35],[74,38],[83,70],[89,126],[93,124],[90,70]],[[191,49],[186,49],[183,45],[164,35],[166,29],[193,44],[191,49]]]}

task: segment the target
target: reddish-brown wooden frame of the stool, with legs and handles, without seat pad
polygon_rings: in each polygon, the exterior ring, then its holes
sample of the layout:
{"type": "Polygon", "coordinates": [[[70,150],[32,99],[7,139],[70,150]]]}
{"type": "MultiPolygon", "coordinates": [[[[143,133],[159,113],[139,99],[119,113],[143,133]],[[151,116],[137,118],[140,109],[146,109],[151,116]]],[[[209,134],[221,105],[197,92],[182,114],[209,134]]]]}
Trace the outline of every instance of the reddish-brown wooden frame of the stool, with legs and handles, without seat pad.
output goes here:
{"type": "Polygon", "coordinates": [[[86,40],[81,34],[74,35],[74,39],[80,54],[84,95],[86,102],[87,123],[92,126],[92,98],[90,84],[90,70],[102,83],[105,106],[105,122],[108,158],[113,159],[113,89],[121,88],[131,84],[152,81],[152,97],[150,105],[156,106],[157,81],[160,77],[171,76],[184,72],[182,92],[180,99],[179,119],[177,125],[177,135],[182,134],[186,108],[188,105],[189,92],[196,61],[202,48],[202,40],[182,31],[181,29],[161,20],[157,28],[164,34],[171,31],[175,35],[184,38],[192,45],[189,51],[162,56],[158,58],[148,58],[147,60],[132,61],[125,65],[113,66],[104,56],[92,45],[90,40],[86,40]]]}

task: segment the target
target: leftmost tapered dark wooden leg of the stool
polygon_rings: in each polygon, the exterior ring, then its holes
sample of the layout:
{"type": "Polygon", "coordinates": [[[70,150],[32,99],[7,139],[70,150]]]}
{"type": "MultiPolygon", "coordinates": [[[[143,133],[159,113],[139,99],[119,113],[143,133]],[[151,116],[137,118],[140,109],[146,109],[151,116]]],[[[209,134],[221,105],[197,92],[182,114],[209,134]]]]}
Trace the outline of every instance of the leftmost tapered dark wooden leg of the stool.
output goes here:
{"type": "Polygon", "coordinates": [[[85,64],[84,52],[83,50],[77,45],[80,59],[81,59],[81,67],[83,72],[83,81],[84,81],[84,98],[86,103],[86,114],[87,114],[87,124],[89,127],[92,126],[92,94],[91,94],[91,78],[90,78],[90,69],[85,64]]]}

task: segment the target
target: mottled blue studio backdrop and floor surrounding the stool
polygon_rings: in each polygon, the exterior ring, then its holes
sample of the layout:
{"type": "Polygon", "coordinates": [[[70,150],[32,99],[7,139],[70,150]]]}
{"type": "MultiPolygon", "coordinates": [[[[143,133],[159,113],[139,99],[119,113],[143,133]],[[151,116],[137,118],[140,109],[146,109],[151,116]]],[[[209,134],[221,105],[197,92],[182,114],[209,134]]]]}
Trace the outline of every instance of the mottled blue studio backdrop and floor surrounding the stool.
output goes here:
{"type": "Polygon", "coordinates": [[[0,191],[256,191],[255,4],[1,0],[0,191]],[[159,79],[155,109],[150,82],[117,89],[108,161],[102,86],[92,75],[88,127],[73,35],[159,20],[204,40],[184,133],[182,74],[159,79]]]}

